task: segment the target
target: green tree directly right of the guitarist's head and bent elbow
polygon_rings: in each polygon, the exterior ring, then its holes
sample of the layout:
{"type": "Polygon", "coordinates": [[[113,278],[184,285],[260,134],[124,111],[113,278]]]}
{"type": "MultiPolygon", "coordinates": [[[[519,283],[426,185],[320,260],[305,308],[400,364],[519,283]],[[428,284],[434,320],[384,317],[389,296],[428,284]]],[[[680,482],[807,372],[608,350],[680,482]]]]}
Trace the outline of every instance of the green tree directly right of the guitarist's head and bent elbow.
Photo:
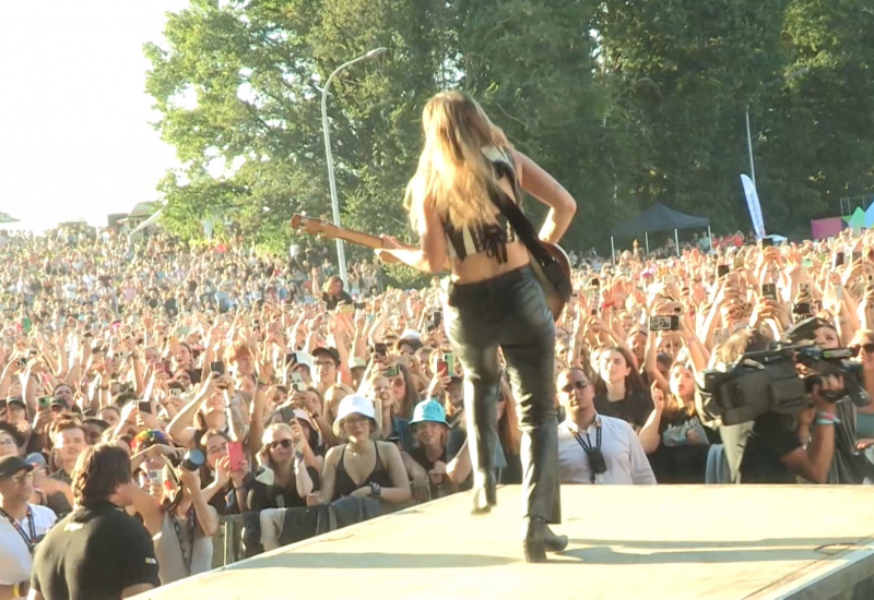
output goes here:
{"type": "MultiPolygon", "coordinates": [[[[603,225],[626,212],[618,191],[629,184],[636,123],[615,101],[621,82],[599,69],[592,33],[599,4],[459,0],[456,7],[461,85],[577,200],[564,244],[603,239],[603,225]]],[[[542,213],[536,206],[534,214],[542,213]]]]}

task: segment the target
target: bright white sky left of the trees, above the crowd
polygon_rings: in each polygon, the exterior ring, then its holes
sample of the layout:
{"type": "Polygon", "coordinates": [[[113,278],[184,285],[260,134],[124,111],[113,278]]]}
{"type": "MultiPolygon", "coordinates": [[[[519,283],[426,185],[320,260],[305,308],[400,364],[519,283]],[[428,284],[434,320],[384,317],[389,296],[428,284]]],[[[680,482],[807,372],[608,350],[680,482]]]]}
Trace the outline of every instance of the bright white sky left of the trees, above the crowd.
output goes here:
{"type": "Polygon", "coordinates": [[[187,0],[0,2],[0,212],[27,228],[157,200],[177,161],[150,121],[145,41],[187,0]]]}

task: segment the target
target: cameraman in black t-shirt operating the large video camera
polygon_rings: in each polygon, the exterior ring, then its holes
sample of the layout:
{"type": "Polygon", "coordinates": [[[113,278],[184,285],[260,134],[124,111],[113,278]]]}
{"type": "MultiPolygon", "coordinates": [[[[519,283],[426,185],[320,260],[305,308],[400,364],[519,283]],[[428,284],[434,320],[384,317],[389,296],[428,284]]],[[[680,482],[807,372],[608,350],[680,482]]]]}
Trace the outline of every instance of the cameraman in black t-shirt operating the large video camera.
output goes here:
{"type": "MultiPolygon", "coordinates": [[[[720,360],[730,364],[747,352],[768,350],[771,340],[747,329],[731,336],[720,349],[720,360]]],[[[734,483],[796,483],[798,477],[824,483],[835,451],[834,403],[820,395],[841,389],[832,375],[813,385],[813,408],[796,416],[765,412],[755,421],[720,427],[734,483]],[[806,449],[803,442],[810,439],[806,449]],[[740,466],[740,469],[739,469],[740,466]]]]}

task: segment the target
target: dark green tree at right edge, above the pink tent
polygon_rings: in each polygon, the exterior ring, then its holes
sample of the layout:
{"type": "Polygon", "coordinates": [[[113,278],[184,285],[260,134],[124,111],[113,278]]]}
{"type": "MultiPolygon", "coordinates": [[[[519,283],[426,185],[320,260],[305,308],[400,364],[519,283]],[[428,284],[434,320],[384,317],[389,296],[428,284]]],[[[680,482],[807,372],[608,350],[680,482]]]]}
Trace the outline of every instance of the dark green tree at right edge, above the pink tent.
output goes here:
{"type": "Polygon", "coordinates": [[[756,175],[773,229],[786,223],[807,235],[808,219],[839,213],[839,199],[874,191],[872,31],[864,1],[787,7],[787,71],[806,71],[769,91],[757,110],[756,175]]]}

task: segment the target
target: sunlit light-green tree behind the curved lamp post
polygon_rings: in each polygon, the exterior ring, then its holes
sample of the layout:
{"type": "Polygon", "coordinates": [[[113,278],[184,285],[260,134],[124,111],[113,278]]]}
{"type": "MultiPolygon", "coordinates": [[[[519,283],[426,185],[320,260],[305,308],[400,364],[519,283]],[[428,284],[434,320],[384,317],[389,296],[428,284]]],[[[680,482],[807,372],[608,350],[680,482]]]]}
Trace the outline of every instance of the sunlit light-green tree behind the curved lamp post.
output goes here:
{"type": "Polygon", "coordinates": [[[345,223],[403,230],[401,197],[418,143],[413,107],[433,94],[439,33],[424,26],[439,2],[192,0],[168,15],[168,48],[146,45],[146,89],[184,164],[165,178],[166,220],[192,236],[194,219],[233,219],[259,242],[283,245],[295,212],[330,215],[321,85],[340,63],[379,45],[390,61],[359,64],[332,84],[329,115],[345,223]],[[210,177],[216,165],[224,175],[210,177]]]}

